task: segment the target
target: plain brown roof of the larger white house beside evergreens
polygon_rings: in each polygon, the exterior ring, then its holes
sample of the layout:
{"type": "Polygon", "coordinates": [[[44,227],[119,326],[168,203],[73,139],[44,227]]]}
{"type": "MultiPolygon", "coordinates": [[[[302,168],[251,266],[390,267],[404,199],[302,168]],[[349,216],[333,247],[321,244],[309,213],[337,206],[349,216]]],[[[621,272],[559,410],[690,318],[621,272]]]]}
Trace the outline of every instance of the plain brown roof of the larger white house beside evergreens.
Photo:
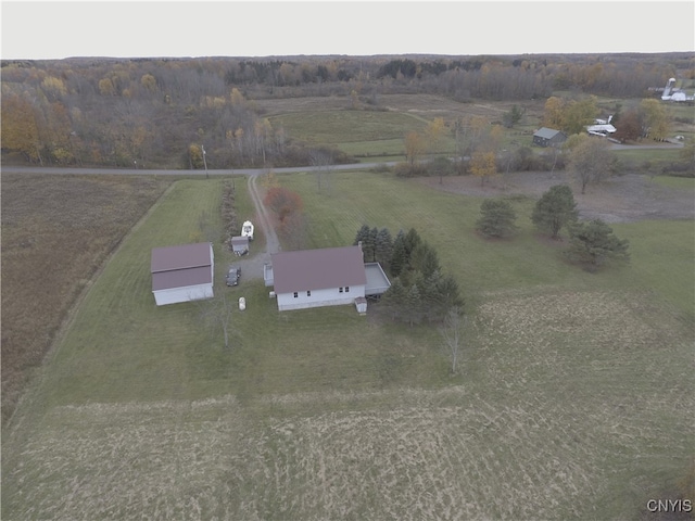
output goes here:
{"type": "Polygon", "coordinates": [[[367,282],[359,246],[280,252],[271,256],[276,293],[362,285],[367,282]]]}

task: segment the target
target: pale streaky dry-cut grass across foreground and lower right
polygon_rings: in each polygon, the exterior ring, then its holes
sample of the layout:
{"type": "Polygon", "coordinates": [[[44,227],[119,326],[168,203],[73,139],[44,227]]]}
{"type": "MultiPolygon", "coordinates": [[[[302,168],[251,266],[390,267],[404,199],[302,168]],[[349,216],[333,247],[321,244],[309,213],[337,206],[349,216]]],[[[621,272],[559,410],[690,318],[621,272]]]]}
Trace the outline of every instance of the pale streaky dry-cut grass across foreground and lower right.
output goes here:
{"type": "Polygon", "coordinates": [[[635,519],[687,463],[688,346],[567,296],[496,295],[440,390],[52,408],[3,519],[635,519]]]}

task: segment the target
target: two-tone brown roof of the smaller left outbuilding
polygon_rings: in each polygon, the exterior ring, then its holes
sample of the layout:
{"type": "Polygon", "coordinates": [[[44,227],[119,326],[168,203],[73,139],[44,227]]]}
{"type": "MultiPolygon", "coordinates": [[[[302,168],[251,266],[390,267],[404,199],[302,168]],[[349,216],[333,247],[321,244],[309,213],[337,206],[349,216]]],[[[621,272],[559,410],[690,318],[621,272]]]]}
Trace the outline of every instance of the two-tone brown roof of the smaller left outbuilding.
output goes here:
{"type": "Polygon", "coordinates": [[[210,242],[155,247],[152,250],[152,291],[213,281],[210,242]]]}

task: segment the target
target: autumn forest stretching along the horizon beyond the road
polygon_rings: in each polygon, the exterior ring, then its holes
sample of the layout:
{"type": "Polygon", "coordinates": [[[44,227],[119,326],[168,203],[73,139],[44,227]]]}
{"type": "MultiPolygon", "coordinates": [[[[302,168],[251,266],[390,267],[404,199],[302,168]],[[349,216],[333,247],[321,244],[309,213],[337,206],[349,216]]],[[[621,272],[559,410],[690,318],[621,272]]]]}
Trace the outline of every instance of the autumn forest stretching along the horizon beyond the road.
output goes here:
{"type": "MultiPolygon", "coordinates": [[[[695,78],[690,53],[519,56],[73,58],[3,61],[2,161],[45,166],[210,168],[306,165],[313,151],[273,128],[268,98],[379,94],[472,100],[554,92],[655,97],[695,78]],[[201,152],[205,147],[205,157],[201,152]],[[210,155],[207,155],[210,153],[210,155]],[[214,157],[214,160],[212,160],[214,157]]],[[[348,161],[334,151],[333,162],[348,161]]]]}

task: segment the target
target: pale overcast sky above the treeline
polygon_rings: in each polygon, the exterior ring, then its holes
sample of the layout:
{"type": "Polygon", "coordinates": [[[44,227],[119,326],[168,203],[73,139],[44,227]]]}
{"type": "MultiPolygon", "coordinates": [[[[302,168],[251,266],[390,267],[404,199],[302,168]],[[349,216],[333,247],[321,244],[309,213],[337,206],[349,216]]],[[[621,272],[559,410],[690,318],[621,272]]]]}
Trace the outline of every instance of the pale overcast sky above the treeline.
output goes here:
{"type": "Polygon", "coordinates": [[[695,53],[693,0],[2,1],[2,59],[695,53]]]}

